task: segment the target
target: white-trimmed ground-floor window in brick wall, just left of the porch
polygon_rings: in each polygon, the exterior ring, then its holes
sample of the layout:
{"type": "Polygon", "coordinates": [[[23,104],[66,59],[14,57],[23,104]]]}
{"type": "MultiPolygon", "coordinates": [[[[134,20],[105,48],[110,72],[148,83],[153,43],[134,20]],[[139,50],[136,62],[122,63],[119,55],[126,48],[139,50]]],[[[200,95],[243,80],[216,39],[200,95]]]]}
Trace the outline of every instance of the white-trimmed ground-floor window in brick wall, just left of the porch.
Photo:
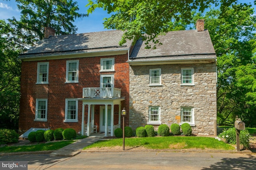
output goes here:
{"type": "Polygon", "coordinates": [[[64,122],[78,122],[78,100],[66,99],[64,122]]]}

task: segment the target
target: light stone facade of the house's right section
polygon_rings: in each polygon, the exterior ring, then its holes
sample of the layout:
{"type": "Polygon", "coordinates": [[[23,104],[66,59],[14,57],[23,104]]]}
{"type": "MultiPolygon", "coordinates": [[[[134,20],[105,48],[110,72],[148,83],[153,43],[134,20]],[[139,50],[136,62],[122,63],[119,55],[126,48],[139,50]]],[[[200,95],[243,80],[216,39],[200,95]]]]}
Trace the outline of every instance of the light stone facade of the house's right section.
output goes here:
{"type": "MultiPolygon", "coordinates": [[[[181,107],[194,108],[192,133],[214,135],[216,63],[130,66],[129,125],[148,124],[149,106],[160,106],[160,121],[180,123],[181,107]],[[161,68],[161,86],[149,86],[150,69],[161,68]],[[181,69],[194,69],[194,86],[181,86],[181,69]]],[[[155,130],[159,125],[154,125],[155,130]]]]}

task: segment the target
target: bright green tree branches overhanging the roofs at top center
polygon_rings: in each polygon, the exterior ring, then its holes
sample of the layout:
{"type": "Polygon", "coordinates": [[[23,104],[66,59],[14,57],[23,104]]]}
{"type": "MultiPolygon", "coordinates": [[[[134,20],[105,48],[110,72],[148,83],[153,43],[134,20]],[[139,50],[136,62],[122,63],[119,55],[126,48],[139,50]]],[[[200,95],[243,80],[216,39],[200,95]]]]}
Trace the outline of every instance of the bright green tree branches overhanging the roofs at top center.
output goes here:
{"type": "MultiPolygon", "coordinates": [[[[221,11],[237,0],[88,0],[88,14],[96,8],[103,8],[112,14],[110,18],[104,19],[104,26],[108,29],[125,31],[120,45],[126,39],[138,39],[161,44],[157,39],[158,35],[170,30],[170,22],[179,20],[187,24],[192,19],[192,11],[203,12],[212,5],[220,5],[221,11]]],[[[147,46],[150,48],[151,46],[147,46]]]]}

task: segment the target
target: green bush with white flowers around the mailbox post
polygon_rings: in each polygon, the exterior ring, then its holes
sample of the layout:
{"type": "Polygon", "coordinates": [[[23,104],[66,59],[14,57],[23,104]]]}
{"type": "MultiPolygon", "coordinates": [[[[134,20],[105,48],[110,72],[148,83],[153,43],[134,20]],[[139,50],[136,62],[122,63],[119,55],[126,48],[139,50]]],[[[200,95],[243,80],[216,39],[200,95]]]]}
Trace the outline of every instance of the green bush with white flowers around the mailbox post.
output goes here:
{"type": "MultiPolygon", "coordinates": [[[[225,139],[226,143],[235,145],[236,129],[234,127],[229,129],[224,129],[223,132],[218,135],[218,137],[225,139]]],[[[240,145],[242,145],[242,149],[250,148],[249,139],[250,139],[250,134],[247,130],[240,131],[240,145]]]]}

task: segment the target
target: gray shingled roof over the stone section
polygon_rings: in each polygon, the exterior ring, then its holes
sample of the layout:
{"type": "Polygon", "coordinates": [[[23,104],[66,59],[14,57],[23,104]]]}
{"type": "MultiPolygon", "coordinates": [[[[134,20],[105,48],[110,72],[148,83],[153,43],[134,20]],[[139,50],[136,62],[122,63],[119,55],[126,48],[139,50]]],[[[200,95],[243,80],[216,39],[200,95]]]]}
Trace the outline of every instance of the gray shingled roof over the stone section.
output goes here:
{"type": "MultiPolygon", "coordinates": [[[[208,30],[200,32],[196,30],[170,31],[166,35],[159,36],[158,39],[160,39],[162,45],[157,45],[156,49],[145,49],[146,45],[144,42],[138,40],[130,55],[130,59],[135,61],[153,60],[153,57],[193,59],[192,56],[194,56],[194,59],[198,59],[198,56],[201,55],[204,58],[207,58],[207,56],[209,58],[216,58],[208,30]]],[[[151,45],[154,44],[151,43],[151,45]]]]}

